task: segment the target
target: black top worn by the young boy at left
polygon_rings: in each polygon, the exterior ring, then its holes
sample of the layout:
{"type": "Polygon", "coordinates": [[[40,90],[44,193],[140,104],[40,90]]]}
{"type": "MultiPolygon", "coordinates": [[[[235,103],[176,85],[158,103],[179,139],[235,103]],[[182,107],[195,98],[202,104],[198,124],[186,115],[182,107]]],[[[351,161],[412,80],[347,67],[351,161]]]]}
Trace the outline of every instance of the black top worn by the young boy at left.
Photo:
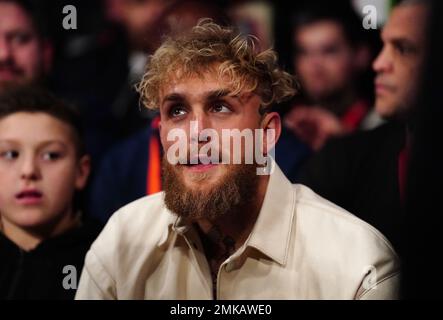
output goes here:
{"type": "Polygon", "coordinates": [[[73,299],[76,290],[71,287],[77,287],[86,252],[100,229],[89,221],[31,251],[0,232],[0,299],[73,299]]]}

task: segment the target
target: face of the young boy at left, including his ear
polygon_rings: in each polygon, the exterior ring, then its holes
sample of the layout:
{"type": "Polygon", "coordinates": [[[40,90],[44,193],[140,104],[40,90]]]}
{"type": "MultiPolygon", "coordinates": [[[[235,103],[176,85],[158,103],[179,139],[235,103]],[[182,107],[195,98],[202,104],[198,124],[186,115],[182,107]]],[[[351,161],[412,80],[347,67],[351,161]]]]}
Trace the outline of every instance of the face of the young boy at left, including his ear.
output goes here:
{"type": "Polygon", "coordinates": [[[89,174],[78,159],[72,128],[45,113],[0,119],[0,214],[18,228],[57,225],[71,214],[72,198],[89,174]]]}

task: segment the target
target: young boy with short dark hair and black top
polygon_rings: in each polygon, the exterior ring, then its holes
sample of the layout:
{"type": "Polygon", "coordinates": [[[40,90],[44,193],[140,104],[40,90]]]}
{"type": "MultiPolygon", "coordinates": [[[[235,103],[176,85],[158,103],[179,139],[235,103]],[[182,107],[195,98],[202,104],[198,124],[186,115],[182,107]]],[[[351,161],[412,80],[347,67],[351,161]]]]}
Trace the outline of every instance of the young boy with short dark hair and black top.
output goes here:
{"type": "Polygon", "coordinates": [[[0,96],[0,299],[72,299],[99,226],[74,196],[90,171],[74,110],[40,89],[0,96]]]}

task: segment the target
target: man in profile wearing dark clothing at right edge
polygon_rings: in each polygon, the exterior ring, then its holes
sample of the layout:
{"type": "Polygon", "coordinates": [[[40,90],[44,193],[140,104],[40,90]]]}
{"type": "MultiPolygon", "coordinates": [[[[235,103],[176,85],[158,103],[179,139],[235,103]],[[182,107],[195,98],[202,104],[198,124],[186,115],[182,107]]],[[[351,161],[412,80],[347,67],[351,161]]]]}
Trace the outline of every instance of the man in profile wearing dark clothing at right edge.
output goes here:
{"type": "Polygon", "coordinates": [[[336,139],[304,168],[300,180],[379,229],[401,254],[401,218],[408,150],[408,119],[423,64],[425,1],[397,5],[383,29],[373,63],[376,111],[390,121],[375,130],[336,139]]]}

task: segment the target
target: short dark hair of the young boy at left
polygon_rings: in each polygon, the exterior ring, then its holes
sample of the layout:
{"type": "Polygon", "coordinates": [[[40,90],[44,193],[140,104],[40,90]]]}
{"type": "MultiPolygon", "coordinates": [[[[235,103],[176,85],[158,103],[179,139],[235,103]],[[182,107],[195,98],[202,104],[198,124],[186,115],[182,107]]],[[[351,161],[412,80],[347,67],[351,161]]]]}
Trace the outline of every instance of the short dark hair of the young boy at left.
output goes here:
{"type": "Polygon", "coordinates": [[[46,113],[72,128],[77,156],[85,154],[82,122],[76,109],[35,86],[9,87],[0,94],[0,120],[17,112],[46,113]]]}

